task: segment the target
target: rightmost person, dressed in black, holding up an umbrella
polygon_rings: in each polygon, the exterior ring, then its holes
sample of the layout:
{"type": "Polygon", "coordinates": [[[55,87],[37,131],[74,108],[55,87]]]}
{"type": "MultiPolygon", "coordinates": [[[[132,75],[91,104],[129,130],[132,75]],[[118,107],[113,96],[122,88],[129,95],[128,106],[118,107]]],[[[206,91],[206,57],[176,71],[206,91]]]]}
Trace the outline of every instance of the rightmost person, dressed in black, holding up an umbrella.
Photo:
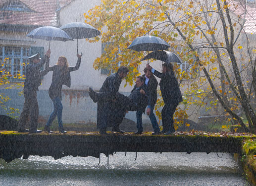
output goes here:
{"type": "Polygon", "coordinates": [[[179,83],[173,72],[172,64],[164,63],[162,73],[152,68],[149,64],[147,64],[147,67],[151,69],[156,77],[161,78],[159,86],[164,102],[161,112],[163,132],[166,135],[174,133],[173,114],[179,102],[182,101],[182,95],[179,83]]]}

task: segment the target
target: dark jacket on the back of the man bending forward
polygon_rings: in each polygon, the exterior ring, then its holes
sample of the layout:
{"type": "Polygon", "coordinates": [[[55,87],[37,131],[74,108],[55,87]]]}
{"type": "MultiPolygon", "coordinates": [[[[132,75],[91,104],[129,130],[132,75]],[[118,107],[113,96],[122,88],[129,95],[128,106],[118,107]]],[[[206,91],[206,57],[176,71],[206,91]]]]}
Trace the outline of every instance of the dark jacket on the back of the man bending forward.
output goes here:
{"type": "Polygon", "coordinates": [[[108,76],[100,89],[100,93],[104,93],[106,99],[114,99],[118,93],[122,79],[115,73],[108,76]]]}

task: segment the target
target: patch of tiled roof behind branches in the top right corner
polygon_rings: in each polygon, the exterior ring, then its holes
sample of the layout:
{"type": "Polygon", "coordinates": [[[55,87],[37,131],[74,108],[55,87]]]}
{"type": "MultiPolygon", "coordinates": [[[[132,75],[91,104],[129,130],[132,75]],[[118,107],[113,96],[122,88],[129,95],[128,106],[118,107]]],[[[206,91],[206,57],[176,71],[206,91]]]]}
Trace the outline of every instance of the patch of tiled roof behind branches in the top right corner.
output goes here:
{"type": "Polygon", "coordinates": [[[247,34],[256,34],[256,6],[255,4],[232,1],[231,9],[236,15],[241,15],[245,20],[244,32],[247,34]],[[246,10],[246,11],[245,11],[246,10]]]}

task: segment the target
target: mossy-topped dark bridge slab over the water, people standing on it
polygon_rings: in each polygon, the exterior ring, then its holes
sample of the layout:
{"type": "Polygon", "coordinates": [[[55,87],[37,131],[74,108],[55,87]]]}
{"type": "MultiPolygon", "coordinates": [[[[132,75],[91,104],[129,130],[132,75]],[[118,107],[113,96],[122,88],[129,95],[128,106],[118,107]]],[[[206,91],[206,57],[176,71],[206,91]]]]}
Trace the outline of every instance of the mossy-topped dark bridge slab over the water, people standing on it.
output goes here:
{"type": "Polygon", "coordinates": [[[242,142],[246,137],[190,134],[176,132],[175,135],[133,135],[131,133],[58,132],[48,134],[0,131],[0,158],[10,162],[29,155],[52,156],[106,156],[114,152],[228,152],[241,154],[242,142]]]}

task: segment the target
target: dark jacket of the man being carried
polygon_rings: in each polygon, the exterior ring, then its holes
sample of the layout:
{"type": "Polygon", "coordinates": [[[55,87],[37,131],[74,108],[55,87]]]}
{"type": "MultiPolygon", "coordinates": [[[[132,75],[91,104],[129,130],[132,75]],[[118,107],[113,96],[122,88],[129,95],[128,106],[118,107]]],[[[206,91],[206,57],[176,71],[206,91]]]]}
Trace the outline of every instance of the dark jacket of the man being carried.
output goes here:
{"type": "Polygon", "coordinates": [[[143,93],[140,93],[141,89],[146,89],[146,85],[144,87],[137,88],[136,85],[134,86],[129,98],[133,100],[137,104],[137,110],[145,111],[145,107],[147,106],[147,96],[143,93]]]}

